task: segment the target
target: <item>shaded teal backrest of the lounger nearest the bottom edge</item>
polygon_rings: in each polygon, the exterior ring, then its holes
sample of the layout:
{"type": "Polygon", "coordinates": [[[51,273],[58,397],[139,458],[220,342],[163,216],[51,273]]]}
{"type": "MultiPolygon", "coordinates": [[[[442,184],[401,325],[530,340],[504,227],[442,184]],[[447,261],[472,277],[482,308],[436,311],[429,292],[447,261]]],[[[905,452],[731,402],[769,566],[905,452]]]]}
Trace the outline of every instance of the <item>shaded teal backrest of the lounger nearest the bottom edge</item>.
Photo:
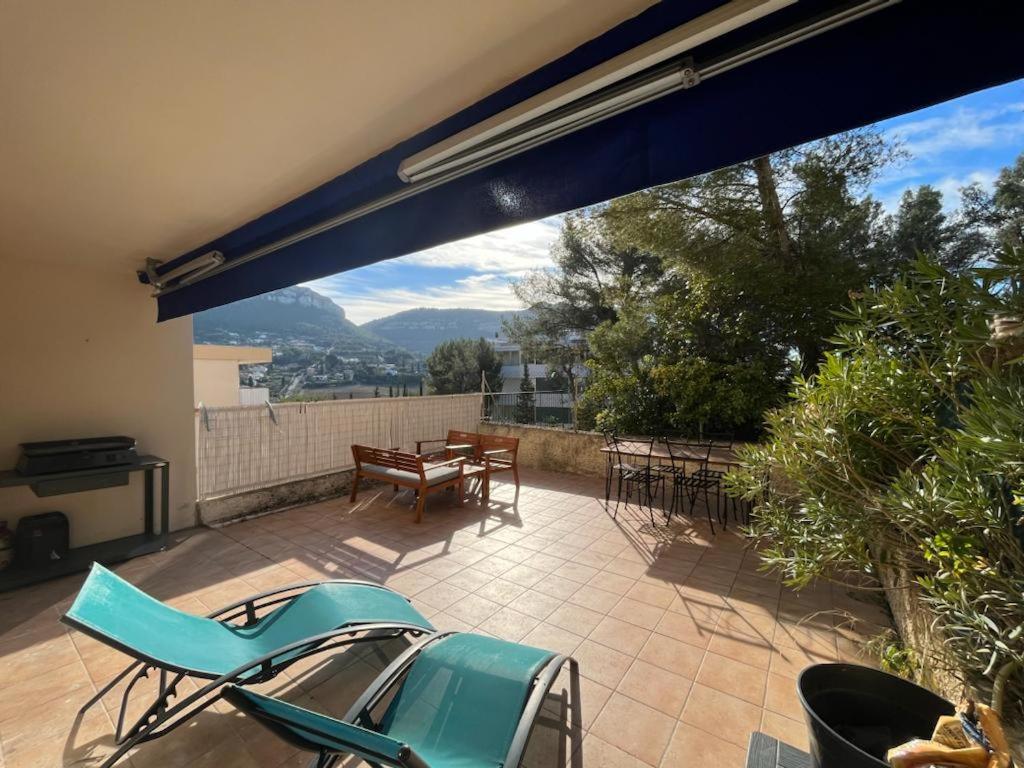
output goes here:
{"type": "Polygon", "coordinates": [[[276,698],[253,693],[251,690],[227,686],[226,698],[240,710],[256,718],[269,721],[274,730],[287,735],[290,740],[305,742],[308,750],[327,748],[333,752],[345,752],[374,762],[386,762],[400,766],[399,754],[404,748],[398,741],[383,733],[367,730],[357,725],[318,715],[301,707],[276,698]],[[327,734],[329,737],[325,737],[327,734]]]}

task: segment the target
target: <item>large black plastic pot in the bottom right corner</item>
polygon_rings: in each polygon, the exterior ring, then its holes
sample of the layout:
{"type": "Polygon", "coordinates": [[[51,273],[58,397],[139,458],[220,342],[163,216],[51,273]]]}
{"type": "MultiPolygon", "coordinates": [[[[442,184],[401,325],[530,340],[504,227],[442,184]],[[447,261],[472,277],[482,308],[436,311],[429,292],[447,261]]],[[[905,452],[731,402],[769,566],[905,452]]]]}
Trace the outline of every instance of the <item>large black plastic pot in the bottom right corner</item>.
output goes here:
{"type": "Polygon", "coordinates": [[[886,752],[930,738],[953,706],[902,678],[852,664],[819,664],[797,681],[815,768],[888,768],[886,752]]]}

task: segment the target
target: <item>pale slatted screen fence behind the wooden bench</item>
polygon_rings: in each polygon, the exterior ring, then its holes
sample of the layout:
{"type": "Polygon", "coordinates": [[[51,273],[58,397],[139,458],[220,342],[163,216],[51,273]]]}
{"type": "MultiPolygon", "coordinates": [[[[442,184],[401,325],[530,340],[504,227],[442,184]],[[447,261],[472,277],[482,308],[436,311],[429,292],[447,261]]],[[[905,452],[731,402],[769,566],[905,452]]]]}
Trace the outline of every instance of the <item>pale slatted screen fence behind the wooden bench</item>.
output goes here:
{"type": "Polygon", "coordinates": [[[201,501],[347,469],[352,444],[413,451],[449,429],[473,431],[479,394],[238,406],[196,412],[201,501]]]}

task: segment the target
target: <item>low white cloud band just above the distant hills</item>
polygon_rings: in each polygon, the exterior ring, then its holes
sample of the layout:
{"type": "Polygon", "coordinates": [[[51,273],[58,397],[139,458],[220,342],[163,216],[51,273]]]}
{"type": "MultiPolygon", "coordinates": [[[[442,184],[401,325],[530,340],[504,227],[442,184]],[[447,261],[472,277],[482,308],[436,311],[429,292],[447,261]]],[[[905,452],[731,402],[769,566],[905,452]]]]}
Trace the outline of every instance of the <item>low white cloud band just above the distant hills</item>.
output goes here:
{"type": "Polygon", "coordinates": [[[432,288],[372,288],[351,291],[339,280],[344,275],[327,278],[308,284],[310,288],[334,299],[345,308],[345,315],[355,324],[394,314],[417,307],[456,309],[521,309],[508,279],[498,274],[470,274],[452,285],[432,288]]]}

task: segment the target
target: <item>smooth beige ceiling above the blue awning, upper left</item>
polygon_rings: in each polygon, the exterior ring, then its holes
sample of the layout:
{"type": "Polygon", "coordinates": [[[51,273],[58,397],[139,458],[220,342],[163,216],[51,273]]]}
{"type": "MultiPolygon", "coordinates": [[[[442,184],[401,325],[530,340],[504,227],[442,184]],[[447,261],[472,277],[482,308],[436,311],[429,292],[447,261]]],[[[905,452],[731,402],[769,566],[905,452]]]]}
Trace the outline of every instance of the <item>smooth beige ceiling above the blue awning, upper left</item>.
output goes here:
{"type": "Polygon", "coordinates": [[[652,0],[0,0],[0,256],[134,269],[652,0]]]}

